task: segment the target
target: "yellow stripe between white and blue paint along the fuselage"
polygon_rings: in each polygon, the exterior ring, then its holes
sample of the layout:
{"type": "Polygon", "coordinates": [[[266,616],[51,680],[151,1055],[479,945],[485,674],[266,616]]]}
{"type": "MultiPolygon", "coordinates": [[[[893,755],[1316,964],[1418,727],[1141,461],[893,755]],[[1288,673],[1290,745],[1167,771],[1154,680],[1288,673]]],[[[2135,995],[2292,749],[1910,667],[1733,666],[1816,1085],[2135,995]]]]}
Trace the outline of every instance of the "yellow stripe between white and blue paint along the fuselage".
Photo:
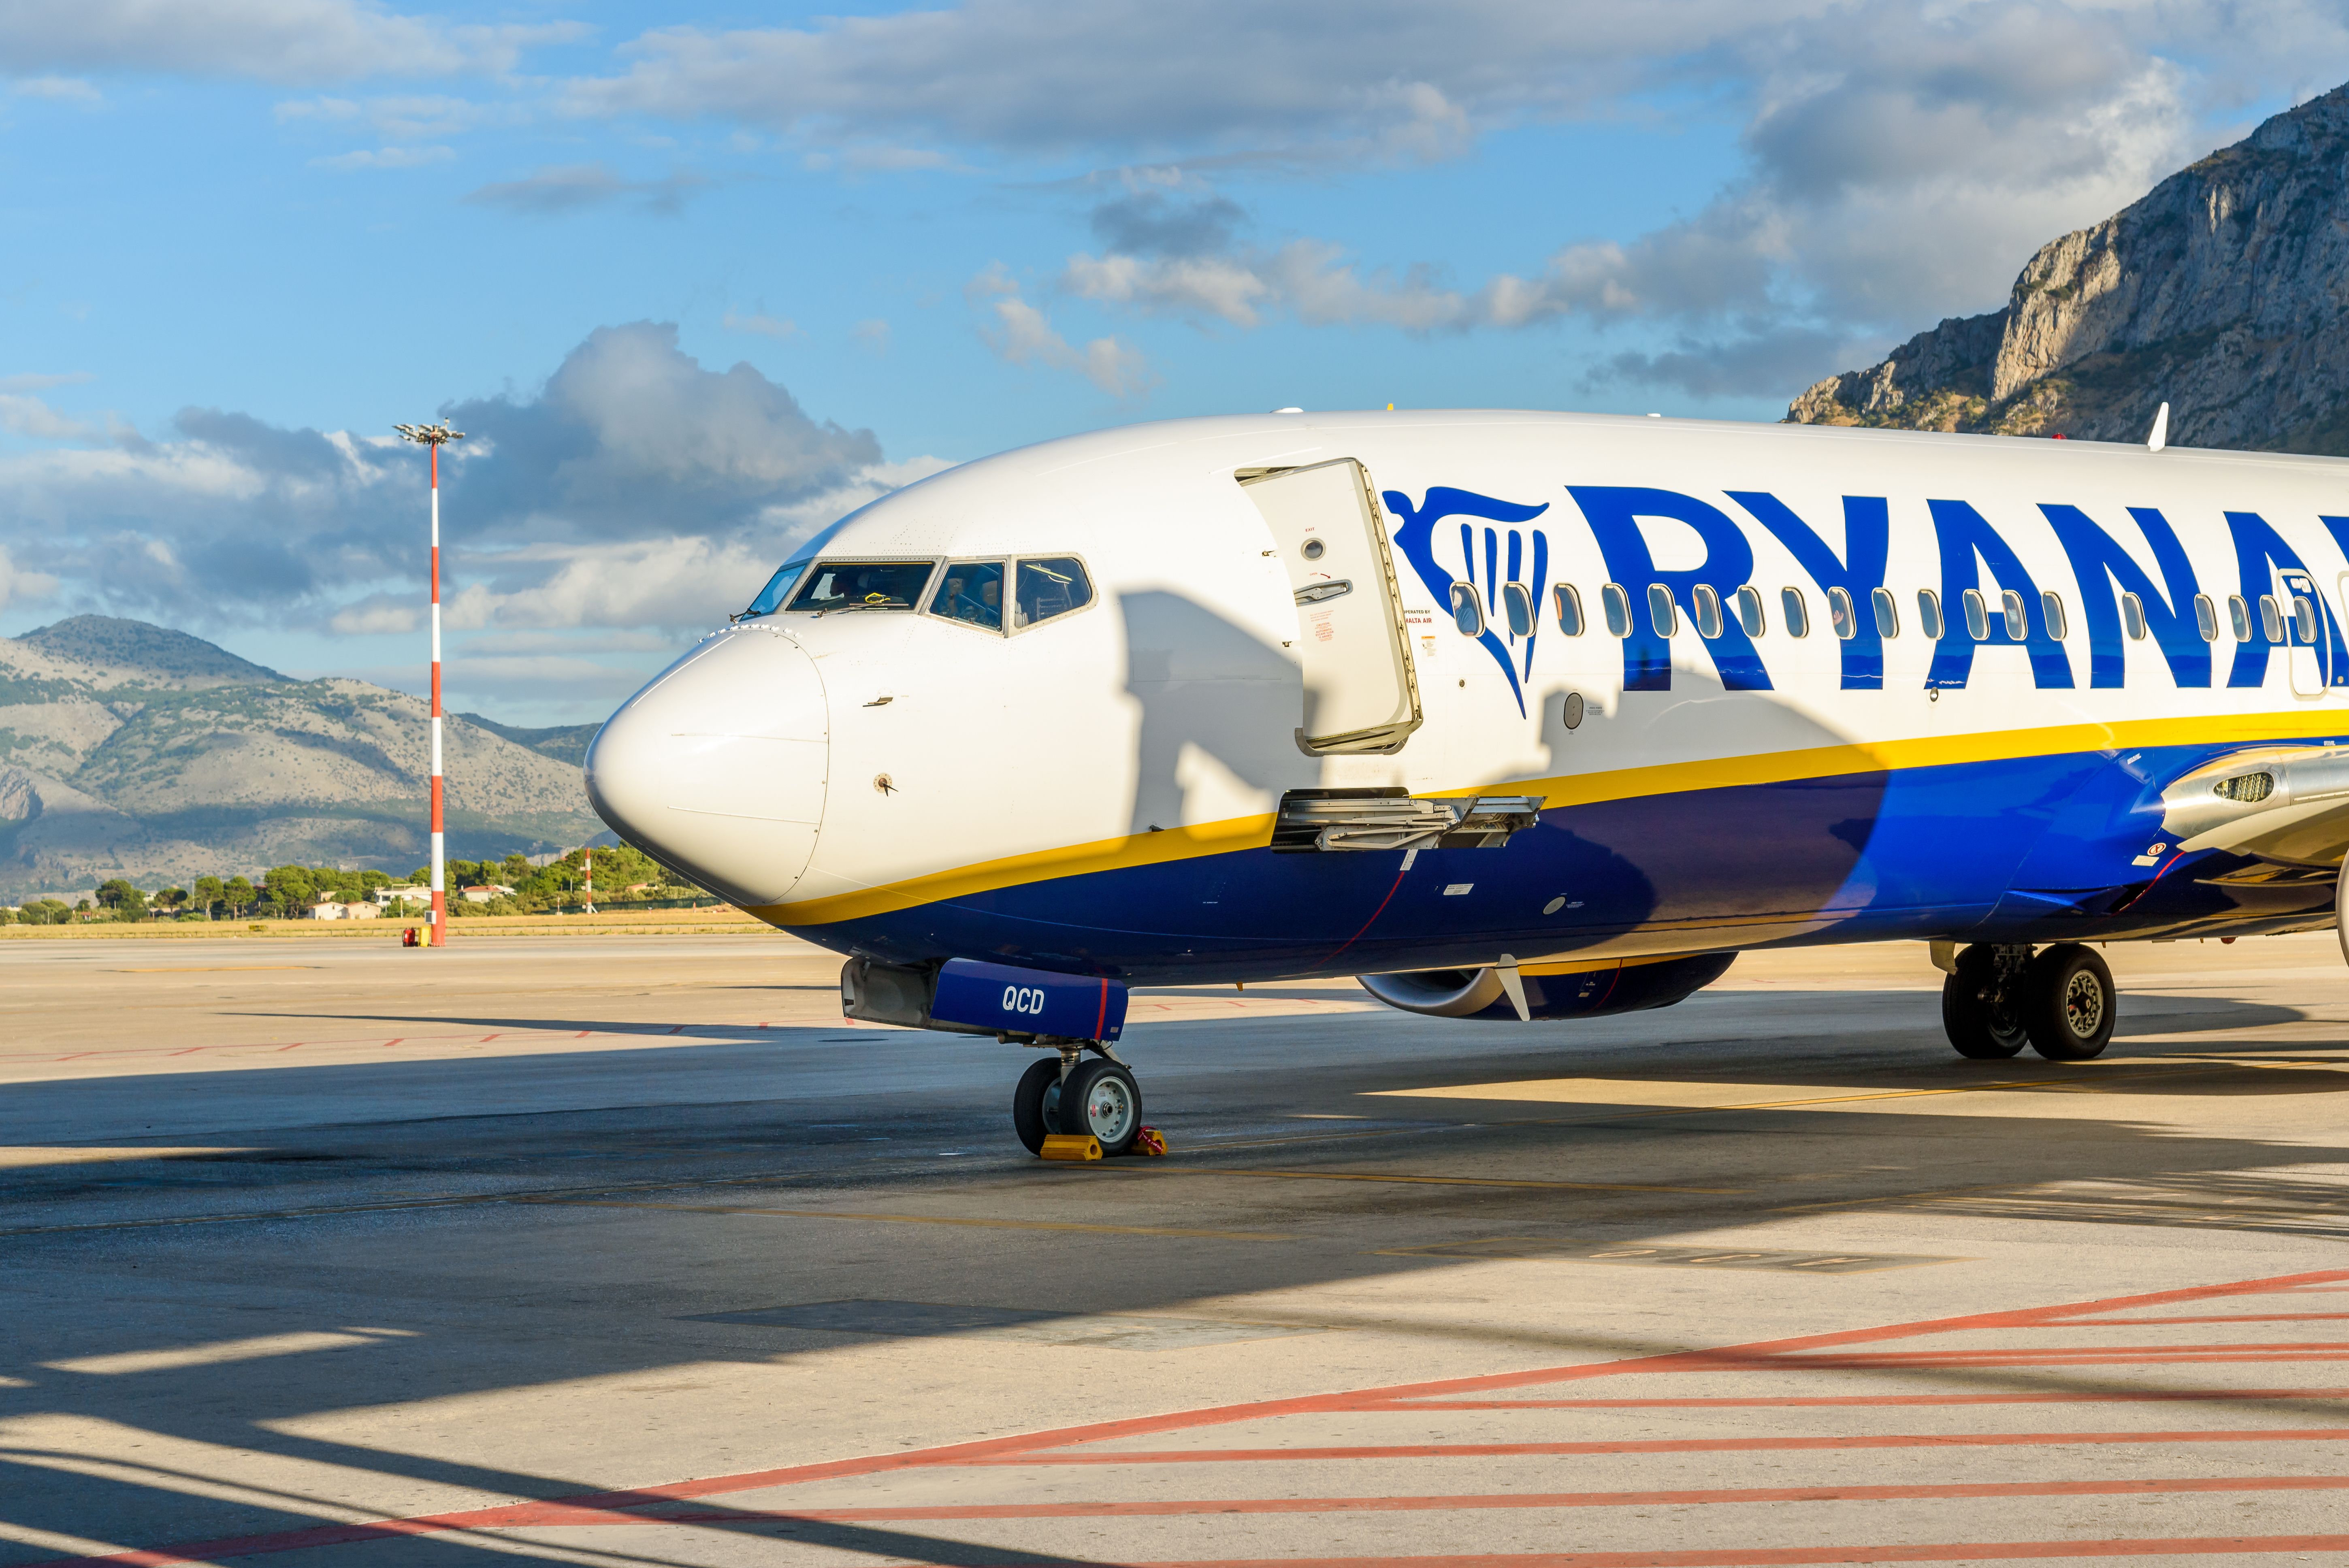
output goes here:
{"type": "MultiPolygon", "coordinates": [[[[2065,756],[2072,751],[2135,751],[2147,746],[2253,746],[2262,742],[2314,739],[2349,730],[2340,709],[2293,709],[2283,714],[2213,714],[2203,718],[2128,718],[2116,723],[2048,725],[2041,730],[1983,730],[1976,735],[1926,735],[1914,739],[1849,742],[1842,746],[1804,746],[1799,751],[1757,751],[1719,756],[1698,763],[1656,763],[1614,772],[1574,772],[1550,779],[1470,784],[1426,791],[1428,796],[1541,796],[1543,810],[1560,805],[1597,805],[1640,796],[1677,796],[1705,789],[1750,784],[1795,784],[1832,779],[1849,772],[1896,772],[1912,768],[1950,768],[1959,763],[2004,763],[2030,756],[2065,756]]],[[[933,871],[928,876],[839,892],[822,899],[768,904],[747,913],[768,925],[832,925],[862,920],[944,899],[963,899],[998,887],[1048,883],[1064,876],[1165,866],[1205,854],[1261,850],[1273,840],[1273,817],[1226,817],[1158,833],[1125,833],[1083,845],[1008,854],[1003,859],[933,871]]]]}

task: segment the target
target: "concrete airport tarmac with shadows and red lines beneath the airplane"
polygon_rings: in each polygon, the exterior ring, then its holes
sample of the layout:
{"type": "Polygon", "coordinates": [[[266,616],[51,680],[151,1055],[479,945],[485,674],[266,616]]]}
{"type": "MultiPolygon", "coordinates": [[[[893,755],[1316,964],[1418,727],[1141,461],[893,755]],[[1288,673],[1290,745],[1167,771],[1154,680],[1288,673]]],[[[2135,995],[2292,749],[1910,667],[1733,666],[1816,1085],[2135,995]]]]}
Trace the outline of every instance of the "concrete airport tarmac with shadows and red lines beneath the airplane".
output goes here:
{"type": "Polygon", "coordinates": [[[1146,991],[1165,1160],[782,937],[0,944],[0,1566],[2344,1561],[2349,967],[1146,991]]]}

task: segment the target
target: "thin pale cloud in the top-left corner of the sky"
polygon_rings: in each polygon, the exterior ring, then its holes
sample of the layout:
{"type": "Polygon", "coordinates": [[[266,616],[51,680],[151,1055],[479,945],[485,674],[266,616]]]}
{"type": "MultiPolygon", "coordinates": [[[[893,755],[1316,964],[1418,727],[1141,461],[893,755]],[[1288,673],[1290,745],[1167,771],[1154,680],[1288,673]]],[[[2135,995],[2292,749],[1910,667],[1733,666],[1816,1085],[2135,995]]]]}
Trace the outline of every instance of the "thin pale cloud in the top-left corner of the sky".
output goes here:
{"type": "Polygon", "coordinates": [[[7,0],[0,70],[341,82],[512,70],[576,23],[449,26],[369,0],[7,0]]]}

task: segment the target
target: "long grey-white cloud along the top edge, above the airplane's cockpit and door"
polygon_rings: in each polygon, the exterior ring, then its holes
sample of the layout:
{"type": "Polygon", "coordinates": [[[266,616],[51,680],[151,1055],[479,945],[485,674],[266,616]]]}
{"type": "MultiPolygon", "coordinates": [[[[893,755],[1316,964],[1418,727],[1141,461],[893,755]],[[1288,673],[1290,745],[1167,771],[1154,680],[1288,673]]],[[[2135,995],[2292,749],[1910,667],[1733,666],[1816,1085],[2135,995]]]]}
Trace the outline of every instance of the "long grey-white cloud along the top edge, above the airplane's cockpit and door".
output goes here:
{"type": "Polygon", "coordinates": [[[672,26],[578,80],[590,115],[1010,150],[1313,143],[1452,157],[1475,127],[1586,113],[1816,0],[965,0],[803,28],[672,26]]]}

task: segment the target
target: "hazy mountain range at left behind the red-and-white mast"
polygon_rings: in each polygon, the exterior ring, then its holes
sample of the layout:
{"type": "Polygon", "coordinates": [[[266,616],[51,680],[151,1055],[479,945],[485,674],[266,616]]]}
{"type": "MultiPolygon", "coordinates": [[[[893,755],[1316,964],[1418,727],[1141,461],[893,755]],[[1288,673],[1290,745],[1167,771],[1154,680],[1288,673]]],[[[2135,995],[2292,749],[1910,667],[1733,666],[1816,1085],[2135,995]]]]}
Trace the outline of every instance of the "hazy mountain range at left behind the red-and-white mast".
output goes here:
{"type": "MultiPolygon", "coordinates": [[[[428,718],[406,692],[294,681],[136,620],[75,615],[5,638],[0,897],[287,861],[406,873],[430,852],[428,718]]],[[[510,735],[568,730],[444,725],[451,857],[601,831],[578,765],[510,735]]]]}

